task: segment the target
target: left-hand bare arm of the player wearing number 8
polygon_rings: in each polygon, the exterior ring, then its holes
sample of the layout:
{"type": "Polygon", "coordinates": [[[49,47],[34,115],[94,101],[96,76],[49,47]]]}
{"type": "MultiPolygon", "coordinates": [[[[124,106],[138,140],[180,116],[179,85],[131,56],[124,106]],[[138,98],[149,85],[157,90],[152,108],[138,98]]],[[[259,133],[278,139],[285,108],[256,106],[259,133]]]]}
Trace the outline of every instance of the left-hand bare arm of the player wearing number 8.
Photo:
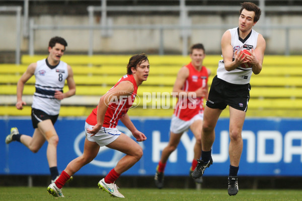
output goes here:
{"type": "Polygon", "coordinates": [[[16,108],[18,110],[22,110],[23,105],[26,105],[26,103],[22,100],[24,85],[35,74],[36,67],[37,67],[37,63],[31,63],[27,67],[26,71],[23,73],[23,75],[20,77],[20,79],[17,83],[17,104],[16,104],[16,108]]]}

